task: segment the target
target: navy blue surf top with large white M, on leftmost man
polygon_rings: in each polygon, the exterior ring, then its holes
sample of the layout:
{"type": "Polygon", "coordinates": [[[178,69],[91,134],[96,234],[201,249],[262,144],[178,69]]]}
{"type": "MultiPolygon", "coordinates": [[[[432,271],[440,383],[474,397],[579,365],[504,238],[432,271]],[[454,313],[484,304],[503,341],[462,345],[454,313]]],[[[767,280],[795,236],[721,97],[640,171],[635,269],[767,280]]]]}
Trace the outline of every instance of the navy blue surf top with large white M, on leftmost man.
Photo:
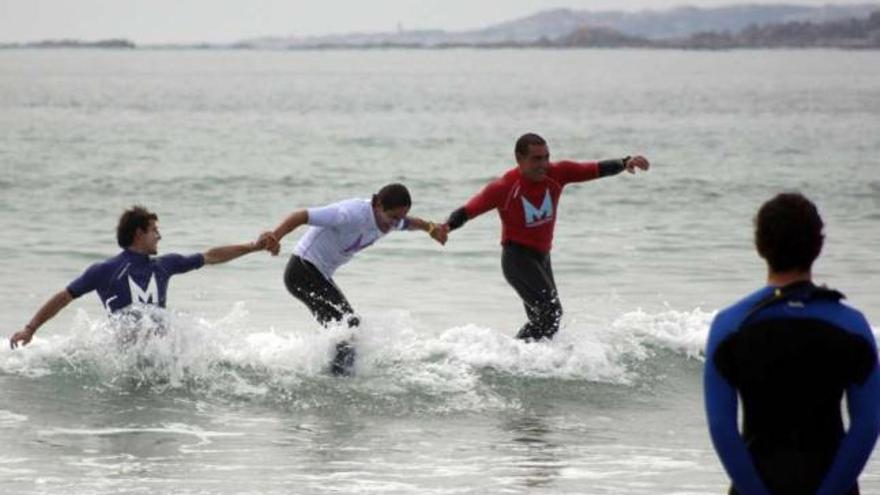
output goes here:
{"type": "Polygon", "coordinates": [[[90,266],[67,286],[67,292],[78,298],[97,291],[108,313],[116,313],[132,303],[164,308],[171,276],[201,268],[204,264],[205,258],[201,254],[150,257],[124,250],[90,266]]]}

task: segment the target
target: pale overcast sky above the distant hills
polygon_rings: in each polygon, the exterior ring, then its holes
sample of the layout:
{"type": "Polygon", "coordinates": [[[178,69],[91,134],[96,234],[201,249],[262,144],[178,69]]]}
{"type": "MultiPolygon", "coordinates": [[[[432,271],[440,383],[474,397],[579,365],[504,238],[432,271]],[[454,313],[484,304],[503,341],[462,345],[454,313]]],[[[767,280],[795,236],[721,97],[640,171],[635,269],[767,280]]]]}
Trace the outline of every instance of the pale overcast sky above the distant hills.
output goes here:
{"type": "MultiPolygon", "coordinates": [[[[257,36],[437,28],[462,30],[540,10],[643,10],[829,0],[0,0],[0,42],[127,38],[231,42],[257,36]]],[[[852,3],[852,2],[846,2],[852,3]]],[[[868,3],[867,0],[865,3],[868,3]]]]}

